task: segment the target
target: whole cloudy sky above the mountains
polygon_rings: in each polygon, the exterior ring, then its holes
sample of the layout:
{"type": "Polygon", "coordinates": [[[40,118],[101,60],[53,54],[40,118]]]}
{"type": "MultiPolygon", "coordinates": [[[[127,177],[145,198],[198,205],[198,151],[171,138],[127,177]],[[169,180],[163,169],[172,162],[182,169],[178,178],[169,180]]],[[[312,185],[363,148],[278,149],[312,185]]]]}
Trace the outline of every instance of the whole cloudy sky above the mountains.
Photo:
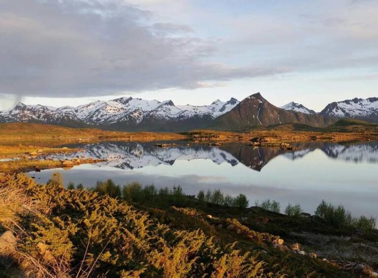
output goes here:
{"type": "Polygon", "coordinates": [[[0,109],[378,96],[377,0],[0,0],[0,109]]]}

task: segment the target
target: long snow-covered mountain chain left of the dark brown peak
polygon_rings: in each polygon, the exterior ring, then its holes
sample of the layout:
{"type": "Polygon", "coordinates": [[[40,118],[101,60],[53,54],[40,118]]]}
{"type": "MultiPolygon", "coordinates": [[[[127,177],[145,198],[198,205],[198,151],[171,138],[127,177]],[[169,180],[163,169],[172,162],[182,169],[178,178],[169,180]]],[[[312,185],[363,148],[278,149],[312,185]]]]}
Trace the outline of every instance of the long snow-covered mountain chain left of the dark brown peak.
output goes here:
{"type": "MultiPolygon", "coordinates": [[[[25,105],[19,102],[13,109],[0,112],[1,122],[42,122],[48,124],[109,126],[117,129],[159,129],[170,122],[199,124],[212,120],[230,111],[239,101],[235,98],[223,102],[214,101],[210,105],[176,106],[171,100],[144,100],[121,97],[109,101],[94,101],[77,107],[50,107],[25,105]]],[[[169,126],[169,125],[168,125],[169,126]]]]}

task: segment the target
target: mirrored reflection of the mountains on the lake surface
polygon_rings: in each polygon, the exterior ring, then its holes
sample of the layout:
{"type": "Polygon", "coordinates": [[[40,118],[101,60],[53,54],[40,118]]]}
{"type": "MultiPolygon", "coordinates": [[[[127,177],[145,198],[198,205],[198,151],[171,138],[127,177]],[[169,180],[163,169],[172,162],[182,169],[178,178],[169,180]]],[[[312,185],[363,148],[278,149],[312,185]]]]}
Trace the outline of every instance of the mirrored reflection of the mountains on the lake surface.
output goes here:
{"type": "MultiPolygon", "coordinates": [[[[77,156],[107,159],[98,163],[119,169],[135,169],[160,164],[173,165],[176,160],[209,159],[214,163],[228,163],[232,166],[242,163],[253,170],[261,169],[276,156],[295,160],[305,155],[321,150],[329,157],[353,162],[378,163],[378,142],[367,143],[328,143],[308,142],[292,143],[297,151],[285,151],[271,147],[253,147],[240,143],[225,144],[220,147],[207,145],[185,145],[177,143],[165,148],[157,147],[154,143],[137,142],[102,142],[87,145],[70,145],[84,151],[75,153],[77,156]]],[[[64,158],[64,156],[50,155],[46,158],[64,158]]]]}

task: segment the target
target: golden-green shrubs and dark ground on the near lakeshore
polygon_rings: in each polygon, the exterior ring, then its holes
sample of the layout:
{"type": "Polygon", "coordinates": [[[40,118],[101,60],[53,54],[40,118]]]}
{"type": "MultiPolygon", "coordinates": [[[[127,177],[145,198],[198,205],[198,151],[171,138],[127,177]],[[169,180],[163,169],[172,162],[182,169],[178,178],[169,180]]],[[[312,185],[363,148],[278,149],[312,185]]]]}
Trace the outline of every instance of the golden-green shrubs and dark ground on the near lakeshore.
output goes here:
{"type": "Polygon", "coordinates": [[[47,185],[0,177],[0,236],[15,237],[0,240],[3,276],[368,277],[378,268],[374,231],[236,198],[230,206],[219,190],[195,198],[181,187],[62,184],[59,174],[47,185]],[[330,239],[332,248],[320,244],[330,239]]]}

